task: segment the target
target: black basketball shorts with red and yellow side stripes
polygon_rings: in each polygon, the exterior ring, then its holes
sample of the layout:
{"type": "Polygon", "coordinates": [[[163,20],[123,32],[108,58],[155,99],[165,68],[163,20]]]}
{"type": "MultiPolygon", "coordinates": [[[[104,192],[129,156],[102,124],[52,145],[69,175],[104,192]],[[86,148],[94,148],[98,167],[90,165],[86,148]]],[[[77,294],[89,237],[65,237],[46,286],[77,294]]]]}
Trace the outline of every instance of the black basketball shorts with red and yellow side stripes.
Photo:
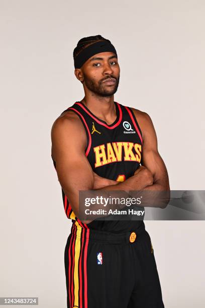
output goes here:
{"type": "Polygon", "coordinates": [[[73,223],[65,247],[67,308],[164,308],[145,227],[115,234],[73,223]]]}

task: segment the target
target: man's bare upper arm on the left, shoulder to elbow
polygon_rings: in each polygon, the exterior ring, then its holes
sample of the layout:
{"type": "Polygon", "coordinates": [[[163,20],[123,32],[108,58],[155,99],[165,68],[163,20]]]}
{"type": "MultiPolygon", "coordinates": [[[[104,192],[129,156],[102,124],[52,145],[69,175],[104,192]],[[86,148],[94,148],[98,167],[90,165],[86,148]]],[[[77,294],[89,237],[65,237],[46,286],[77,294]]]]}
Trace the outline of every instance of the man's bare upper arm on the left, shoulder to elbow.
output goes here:
{"type": "Polygon", "coordinates": [[[58,180],[77,213],[79,190],[92,189],[94,179],[84,152],[84,131],[77,123],[66,120],[61,119],[52,128],[52,150],[55,153],[58,180]]]}

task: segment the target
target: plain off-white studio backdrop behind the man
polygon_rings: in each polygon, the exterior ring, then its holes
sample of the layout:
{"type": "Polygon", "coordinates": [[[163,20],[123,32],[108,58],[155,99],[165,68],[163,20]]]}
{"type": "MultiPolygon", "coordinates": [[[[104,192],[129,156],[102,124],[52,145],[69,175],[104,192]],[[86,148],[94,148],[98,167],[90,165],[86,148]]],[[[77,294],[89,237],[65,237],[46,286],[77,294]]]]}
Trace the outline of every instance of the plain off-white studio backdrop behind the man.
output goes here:
{"type": "MultiPolygon", "coordinates": [[[[71,223],[51,160],[50,130],[83,98],[74,76],[77,41],[115,45],[115,100],[147,112],[172,190],[204,189],[203,0],[0,0],[0,297],[38,296],[66,307],[64,248],[71,223]]],[[[202,308],[204,221],[145,221],[165,308],[202,308]]]]}

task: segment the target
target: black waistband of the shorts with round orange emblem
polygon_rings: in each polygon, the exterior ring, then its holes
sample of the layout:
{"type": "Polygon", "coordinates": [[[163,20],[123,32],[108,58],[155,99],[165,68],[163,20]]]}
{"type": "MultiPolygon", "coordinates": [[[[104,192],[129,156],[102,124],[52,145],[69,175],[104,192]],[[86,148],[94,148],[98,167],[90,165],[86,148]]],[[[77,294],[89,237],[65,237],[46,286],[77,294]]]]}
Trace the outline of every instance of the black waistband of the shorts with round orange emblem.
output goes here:
{"type": "Polygon", "coordinates": [[[132,244],[136,242],[138,237],[146,233],[147,231],[144,225],[124,233],[111,233],[102,230],[83,228],[81,226],[75,225],[74,223],[71,227],[71,234],[73,234],[78,240],[82,239],[83,241],[85,240],[112,244],[132,244]]]}

